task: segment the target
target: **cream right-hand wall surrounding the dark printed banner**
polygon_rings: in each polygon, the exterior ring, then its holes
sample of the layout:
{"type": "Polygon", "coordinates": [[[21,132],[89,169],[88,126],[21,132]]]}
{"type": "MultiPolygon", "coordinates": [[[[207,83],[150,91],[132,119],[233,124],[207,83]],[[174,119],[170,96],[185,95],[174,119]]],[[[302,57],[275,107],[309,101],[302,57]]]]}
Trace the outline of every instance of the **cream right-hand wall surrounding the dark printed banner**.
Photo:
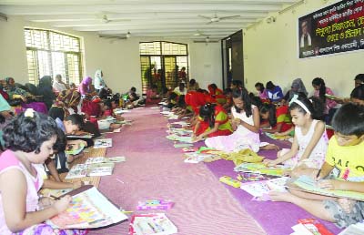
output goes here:
{"type": "MultiPolygon", "coordinates": [[[[244,64],[247,87],[255,91],[254,84],[273,83],[287,90],[291,81],[301,77],[306,88],[312,91],[311,81],[322,77],[327,87],[341,97],[349,97],[354,87],[354,77],[364,73],[364,51],[334,56],[298,59],[297,21],[298,17],[324,7],[323,1],[308,0],[282,15],[277,21],[267,24],[264,20],[257,26],[245,30],[244,64]]],[[[328,5],[337,1],[329,1],[328,5]]]]}

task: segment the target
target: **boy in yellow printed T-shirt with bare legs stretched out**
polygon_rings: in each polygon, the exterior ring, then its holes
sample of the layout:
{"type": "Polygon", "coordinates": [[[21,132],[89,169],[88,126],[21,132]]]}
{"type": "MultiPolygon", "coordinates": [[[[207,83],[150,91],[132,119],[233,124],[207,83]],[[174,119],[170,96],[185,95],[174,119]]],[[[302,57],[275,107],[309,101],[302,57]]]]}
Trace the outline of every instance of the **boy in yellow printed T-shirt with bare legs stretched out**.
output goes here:
{"type": "MultiPolygon", "coordinates": [[[[325,163],[315,172],[318,186],[364,193],[364,107],[350,103],[340,107],[333,117],[332,127],[335,136],[329,140],[325,163]]],[[[298,190],[269,194],[273,200],[294,203],[322,220],[335,222],[340,228],[364,219],[364,201],[298,190]]]]}

